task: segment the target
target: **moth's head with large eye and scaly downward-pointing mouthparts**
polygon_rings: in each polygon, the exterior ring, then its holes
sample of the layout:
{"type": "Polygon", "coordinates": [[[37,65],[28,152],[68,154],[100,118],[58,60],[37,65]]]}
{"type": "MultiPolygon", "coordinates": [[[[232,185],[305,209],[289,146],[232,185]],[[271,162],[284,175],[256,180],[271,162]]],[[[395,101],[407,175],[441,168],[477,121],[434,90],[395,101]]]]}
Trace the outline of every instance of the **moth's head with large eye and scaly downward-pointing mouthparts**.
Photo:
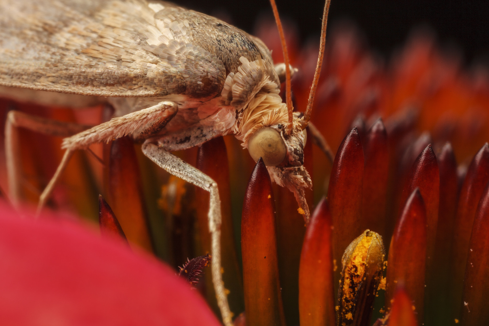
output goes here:
{"type": "Polygon", "coordinates": [[[309,219],[309,208],[305,199],[306,188],[312,187],[311,177],[304,168],[306,130],[302,120],[294,113],[292,132],[287,134],[285,124],[261,126],[246,139],[248,152],[258,161],[261,157],[267,166],[270,178],[294,193],[299,204],[299,213],[309,219]]]}

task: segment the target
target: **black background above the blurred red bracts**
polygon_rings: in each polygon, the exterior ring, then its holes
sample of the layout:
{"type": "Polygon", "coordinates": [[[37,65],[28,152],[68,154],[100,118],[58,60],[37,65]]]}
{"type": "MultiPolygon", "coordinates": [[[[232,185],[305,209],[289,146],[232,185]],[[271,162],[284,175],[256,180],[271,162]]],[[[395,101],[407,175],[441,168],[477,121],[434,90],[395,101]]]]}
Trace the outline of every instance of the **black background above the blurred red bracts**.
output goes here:
{"type": "MultiPolygon", "coordinates": [[[[276,0],[281,17],[296,22],[302,40],[318,36],[322,0],[276,0]]],[[[249,33],[260,15],[271,15],[268,0],[177,0],[225,18],[249,33]]],[[[489,63],[489,1],[482,0],[332,0],[328,27],[356,24],[366,44],[389,58],[413,28],[431,29],[439,45],[461,56],[466,65],[489,63]]],[[[330,28],[328,28],[330,29],[330,28]]]]}

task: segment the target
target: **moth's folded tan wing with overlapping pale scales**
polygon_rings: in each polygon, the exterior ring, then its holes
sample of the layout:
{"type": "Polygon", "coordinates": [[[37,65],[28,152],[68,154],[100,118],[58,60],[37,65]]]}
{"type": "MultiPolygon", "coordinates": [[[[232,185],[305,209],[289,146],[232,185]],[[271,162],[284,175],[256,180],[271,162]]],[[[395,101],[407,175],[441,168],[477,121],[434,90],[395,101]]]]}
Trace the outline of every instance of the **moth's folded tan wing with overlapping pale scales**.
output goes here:
{"type": "Polygon", "coordinates": [[[165,6],[174,5],[2,0],[0,85],[115,97],[214,96],[225,79],[222,62],[158,29],[155,13],[165,6]],[[151,51],[161,44],[168,45],[166,57],[151,51]]]}

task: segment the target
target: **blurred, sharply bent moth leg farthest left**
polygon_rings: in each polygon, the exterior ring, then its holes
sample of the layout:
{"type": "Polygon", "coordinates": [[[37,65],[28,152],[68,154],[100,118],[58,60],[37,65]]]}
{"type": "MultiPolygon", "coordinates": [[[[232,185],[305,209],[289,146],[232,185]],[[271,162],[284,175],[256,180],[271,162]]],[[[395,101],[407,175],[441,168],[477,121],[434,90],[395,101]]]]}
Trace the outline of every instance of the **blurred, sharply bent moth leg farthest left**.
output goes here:
{"type": "Polygon", "coordinates": [[[20,144],[17,136],[19,127],[46,135],[67,137],[87,130],[91,126],[46,119],[16,110],[8,112],[5,123],[5,158],[10,200],[15,207],[19,205],[21,197],[20,181],[22,178],[20,144]]]}

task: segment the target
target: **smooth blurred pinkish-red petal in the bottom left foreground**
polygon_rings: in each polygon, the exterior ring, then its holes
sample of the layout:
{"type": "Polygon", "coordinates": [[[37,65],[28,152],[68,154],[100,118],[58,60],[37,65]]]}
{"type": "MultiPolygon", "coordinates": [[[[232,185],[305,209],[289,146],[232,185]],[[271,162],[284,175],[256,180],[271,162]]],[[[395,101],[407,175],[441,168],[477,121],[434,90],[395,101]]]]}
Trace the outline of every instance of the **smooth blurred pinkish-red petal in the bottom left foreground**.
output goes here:
{"type": "Polygon", "coordinates": [[[173,270],[70,221],[1,205],[0,259],[2,325],[220,325],[173,270]]]}

